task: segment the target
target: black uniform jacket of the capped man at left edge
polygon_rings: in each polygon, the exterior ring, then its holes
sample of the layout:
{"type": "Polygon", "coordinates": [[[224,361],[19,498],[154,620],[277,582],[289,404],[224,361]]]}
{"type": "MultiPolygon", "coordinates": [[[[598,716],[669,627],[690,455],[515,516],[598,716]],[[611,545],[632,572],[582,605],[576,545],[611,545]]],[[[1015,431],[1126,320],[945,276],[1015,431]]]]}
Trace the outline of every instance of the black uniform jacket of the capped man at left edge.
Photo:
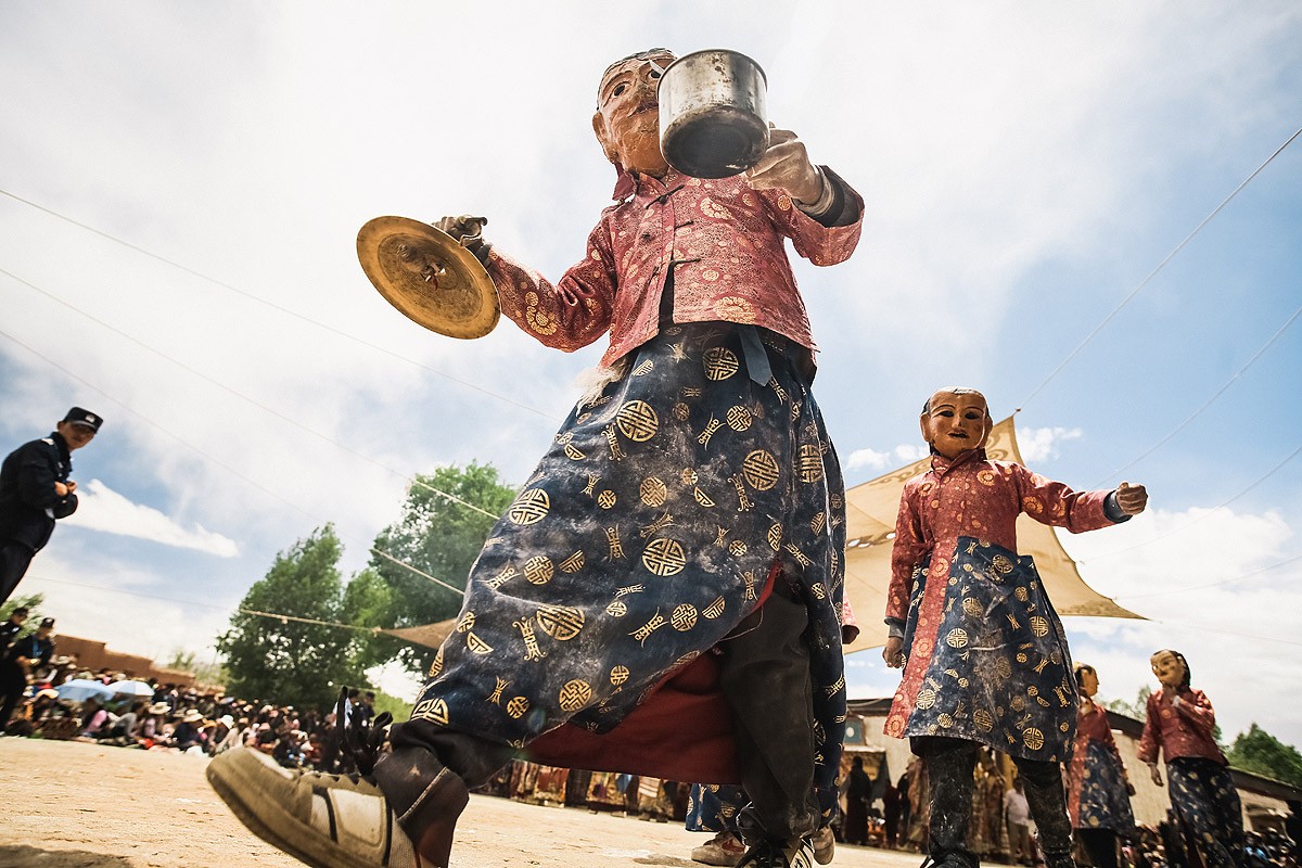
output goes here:
{"type": "Polygon", "coordinates": [[[40,550],[49,541],[55,519],[77,511],[77,495],[55,493],[55,483],[66,483],[72,470],[68,444],[57,432],[9,453],[0,466],[0,543],[40,550]]]}

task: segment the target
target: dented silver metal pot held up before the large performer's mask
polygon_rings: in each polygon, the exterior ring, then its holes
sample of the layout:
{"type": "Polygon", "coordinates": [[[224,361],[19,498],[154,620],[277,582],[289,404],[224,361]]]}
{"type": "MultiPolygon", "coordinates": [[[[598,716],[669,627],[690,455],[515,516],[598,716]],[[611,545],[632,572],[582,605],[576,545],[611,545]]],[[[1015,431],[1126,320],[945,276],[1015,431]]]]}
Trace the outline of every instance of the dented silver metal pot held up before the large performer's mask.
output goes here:
{"type": "Polygon", "coordinates": [[[754,60],[713,48],[684,55],[660,78],[660,151],[695,178],[745,172],[768,150],[767,79],[754,60]]]}

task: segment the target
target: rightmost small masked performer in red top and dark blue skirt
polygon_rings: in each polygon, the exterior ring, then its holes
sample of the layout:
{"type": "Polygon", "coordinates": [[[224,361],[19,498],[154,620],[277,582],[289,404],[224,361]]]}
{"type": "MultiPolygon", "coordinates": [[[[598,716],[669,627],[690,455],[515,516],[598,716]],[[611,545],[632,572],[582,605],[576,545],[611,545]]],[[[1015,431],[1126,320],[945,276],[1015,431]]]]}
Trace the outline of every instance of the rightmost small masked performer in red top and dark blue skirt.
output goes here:
{"type": "Polygon", "coordinates": [[[1152,782],[1161,786],[1157,752],[1164,755],[1172,808],[1208,868],[1240,865],[1243,809],[1229,761],[1212,737],[1212,703],[1207,694],[1190,687],[1189,662],[1178,651],[1159,651],[1150,664],[1161,690],[1148,696],[1139,759],[1148,764],[1152,782]]]}

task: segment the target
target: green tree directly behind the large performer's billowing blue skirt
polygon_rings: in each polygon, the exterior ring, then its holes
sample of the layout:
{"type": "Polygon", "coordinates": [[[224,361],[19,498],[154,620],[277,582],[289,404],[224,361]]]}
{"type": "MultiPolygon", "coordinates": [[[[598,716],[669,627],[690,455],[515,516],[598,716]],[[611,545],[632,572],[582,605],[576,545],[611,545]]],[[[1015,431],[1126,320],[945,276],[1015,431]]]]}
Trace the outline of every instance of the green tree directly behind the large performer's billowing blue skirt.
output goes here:
{"type": "MultiPolygon", "coordinates": [[[[430,475],[417,476],[408,489],[402,517],[375,537],[375,549],[383,556],[372,553],[370,571],[389,590],[388,609],[383,618],[358,623],[410,627],[456,617],[461,610],[460,592],[449,591],[389,558],[410,563],[458,590],[465,588],[470,566],[479,557],[496,523],[495,517],[501,515],[514,497],[514,489],[503,484],[492,465],[473,462],[464,468],[440,467],[430,475]],[[454,495],[488,515],[431,489],[454,495]]],[[[374,614],[376,610],[366,606],[378,604],[379,593],[370,583],[363,591],[358,592],[358,597],[370,604],[358,600],[359,610],[374,614]]],[[[411,671],[423,674],[434,649],[380,636],[366,645],[358,662],[371,666],[395,657],[411,671]]]]}

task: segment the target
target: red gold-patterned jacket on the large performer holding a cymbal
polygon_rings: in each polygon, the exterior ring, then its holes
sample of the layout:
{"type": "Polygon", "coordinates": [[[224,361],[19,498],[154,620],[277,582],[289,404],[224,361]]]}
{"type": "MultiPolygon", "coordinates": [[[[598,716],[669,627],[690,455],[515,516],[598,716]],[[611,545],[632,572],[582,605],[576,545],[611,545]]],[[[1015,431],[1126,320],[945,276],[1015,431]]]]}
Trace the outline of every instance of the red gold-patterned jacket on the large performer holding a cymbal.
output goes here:
{"type": "Polygon", "coordinates": [[[605,332],[611,364],[655,337],[665,280],[673,273],[673,320],[749,323],[814,347],[809,315],[786,259],[784,239],[815,265],[844,262],[859,241],[863,200],[824,168],[852,198],[855,220],[824,226],[777,190],[754,190],[743,176],[638,177],[633,195],[602,212],[587,255],[549,284],[493,249],[488,273],[503,312],[529,334],[565,351],[605,332]]]}

